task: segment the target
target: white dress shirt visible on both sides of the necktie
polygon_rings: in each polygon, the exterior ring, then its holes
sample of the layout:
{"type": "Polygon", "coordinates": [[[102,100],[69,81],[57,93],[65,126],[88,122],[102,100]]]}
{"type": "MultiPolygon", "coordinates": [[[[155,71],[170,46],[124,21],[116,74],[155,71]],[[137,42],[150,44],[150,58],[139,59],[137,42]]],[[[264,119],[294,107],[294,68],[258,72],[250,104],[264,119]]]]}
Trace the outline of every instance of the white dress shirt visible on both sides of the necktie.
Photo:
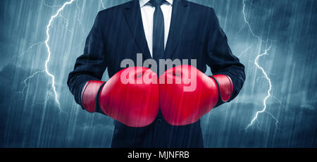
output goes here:
{"type": "MultiPolygon", "coordinates": [[[[141,8],[142,22],[144,27],[145,37],[147,38],[147,45],[153,57],[153,17],[155,7],[149,3],[150,0],[139,0],[141,8]]],[[[166,0],[166,3],[161,5],[161,10],[164,16],[164,48],[168,40],[168,32],[170,30],[170,19],[172,17],[173,0],[166,0]]]]}

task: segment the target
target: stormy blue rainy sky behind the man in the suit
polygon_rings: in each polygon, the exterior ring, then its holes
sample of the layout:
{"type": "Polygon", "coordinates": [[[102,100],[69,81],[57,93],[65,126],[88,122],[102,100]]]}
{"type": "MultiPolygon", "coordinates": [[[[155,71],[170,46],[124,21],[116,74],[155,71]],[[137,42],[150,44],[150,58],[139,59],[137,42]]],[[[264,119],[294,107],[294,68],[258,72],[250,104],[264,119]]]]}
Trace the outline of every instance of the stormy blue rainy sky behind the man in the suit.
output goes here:
{"type": "MultiPolygon", "coordinates": [[[[246,66],[240,95],[203,117],[205,147],[317,147],[315,0],[193,0],[215,9],[232,52],[246,66]],[[245,21],[247,20],[247,21],[245,21]],[[266,50],[269,49],[269,50],[266,50]],[[266,111],[246,129],[263,108],[266,111]]],[[[66,81],[98,11],[126,1],[0,1],[0,147],[110,147],[113,120],[83,111],[66,81]]],[[[125,25],[125,23],[123,23],[125,25]]],[[[211,74],[210,70],[208,70],[211,74]]],[[[107,80],[104,73],[104,80],[107,80]]]]}

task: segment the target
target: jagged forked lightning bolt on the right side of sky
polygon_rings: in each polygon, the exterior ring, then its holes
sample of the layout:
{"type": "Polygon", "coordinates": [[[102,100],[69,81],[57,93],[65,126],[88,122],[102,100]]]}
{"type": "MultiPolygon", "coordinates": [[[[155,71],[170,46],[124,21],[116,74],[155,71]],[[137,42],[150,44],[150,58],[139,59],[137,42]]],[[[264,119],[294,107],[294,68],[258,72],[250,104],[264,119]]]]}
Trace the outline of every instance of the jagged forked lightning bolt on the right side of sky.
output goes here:
{"type": "MultiPolygon", "coordinates": [[[[255,35],[254,34],[254,31],[252,30],[251,28],[251,25],[249,23],[249,21],[247,20],[247,14],[245,12],[246,10],[246,2],[247,0],[242,0],[242,4],[243,4],[243,8],[242,8],[242,14],[243,14],[243,18],[244,18],[244,26],[247,26],[248,29],[249,29],[249,32],[251,33],[251,35],[253,35],[253,37],[255,37],[256,39],[259,40],[260,44],[262,44],[262,42],[268,42],[268,41],[263,41],[259,36],[255,35]]],[[[241,29],[240,29],[241,30],[241,29]]],[[[265,56],[265,55],[268,55],[268,51],[271,50],[271,45],[268,46],[268,48],[265,49],[265,51],[263,52],[263,54],[259,54],[258,56],[256,56],[256,59],[254,61],[254,64],[256,65],[257,68],[259,68],[261,70],[261,72],[263,73],[264,77],[266,78],[266,80],[268,81],[268,85],[269,85],[269,88],[268,88],[268,91],[267,91],[267,95],[266,97],[263,99],[263,108],[261,109],[261,111],[256,111],[256,114],[254,116],[254,118],[251,120],[251,122],[249,123],[249,125],[247,125],[247,127],[245,128],[245,130],[248,130],[249,127],[251,127],[251,125],[254,124],[254,122],[258,119],[258,116],[260,113],[268,113],[274,120],[275,120],[275,125],[278,127],[278,119],[275,118],[275,116],[273,116],[272,113],[269,113],[266,111],[266,101],[268,100],[268,98],[271,96],[271,90],[272,90],[272,83],[271,83],[271,79],[270,77],[268,77],[268,74],[266,73],[266,71],[264,70],[264,68],[262,68],[260,65],[259,65],[259,58],[261,58],[262,56],[265,56]]]]}

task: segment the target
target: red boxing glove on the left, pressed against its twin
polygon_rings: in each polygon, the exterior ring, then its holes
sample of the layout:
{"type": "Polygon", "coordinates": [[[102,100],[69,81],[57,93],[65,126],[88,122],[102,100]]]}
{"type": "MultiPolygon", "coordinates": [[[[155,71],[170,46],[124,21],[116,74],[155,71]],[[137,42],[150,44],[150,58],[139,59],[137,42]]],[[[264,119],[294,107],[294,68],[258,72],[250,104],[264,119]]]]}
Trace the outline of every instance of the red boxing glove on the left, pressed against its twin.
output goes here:
{"type": "Polygon", "coordinates": [[[130,127],[145,127],[159,113],[158,79],[149,68],[126,68],[105,84],[87,82],[82,92],[82,106],[94,112],[99,104],[101,110],[114,120],[130,127]]]}

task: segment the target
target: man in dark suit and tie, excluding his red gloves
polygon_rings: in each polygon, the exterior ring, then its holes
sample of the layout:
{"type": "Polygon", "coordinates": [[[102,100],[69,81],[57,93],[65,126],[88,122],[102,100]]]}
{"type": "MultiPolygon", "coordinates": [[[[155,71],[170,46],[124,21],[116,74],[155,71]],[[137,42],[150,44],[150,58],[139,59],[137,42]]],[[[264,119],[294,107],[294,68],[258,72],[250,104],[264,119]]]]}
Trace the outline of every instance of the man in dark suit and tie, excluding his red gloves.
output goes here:
{"type": "MultiPolygon", "coordinates": [[[[84,54],[68,77],[77,104],[82,106],[82,89],[89,80],[101,80],[106,68],[112,77],[123,70],[121,61],[129,58],[136,63],[137,54],[144,60],[195,59],[201,72],[209,66],[214,75],[229,76],[233,85],[229,101],[245,80],[244,66],[232,54],[213,8],[185,0],[134,0],[98,13],[84,54]]],[[[116,120],[114,125],[111,147],[204,147],[200,120],[173,126],[159,112],[146,127],[128,127],[116,120]]]]}

